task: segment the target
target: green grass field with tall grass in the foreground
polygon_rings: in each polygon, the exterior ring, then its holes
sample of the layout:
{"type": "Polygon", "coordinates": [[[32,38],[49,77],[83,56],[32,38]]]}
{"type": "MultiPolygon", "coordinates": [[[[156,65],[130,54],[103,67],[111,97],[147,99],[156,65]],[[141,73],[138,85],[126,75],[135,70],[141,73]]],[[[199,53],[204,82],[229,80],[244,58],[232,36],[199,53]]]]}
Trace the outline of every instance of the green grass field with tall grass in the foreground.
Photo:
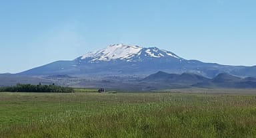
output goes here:
{"type": "Polygon", "coordinates": [[[256,137],[256,95],[3,92],[0,137],[256,137]]]}

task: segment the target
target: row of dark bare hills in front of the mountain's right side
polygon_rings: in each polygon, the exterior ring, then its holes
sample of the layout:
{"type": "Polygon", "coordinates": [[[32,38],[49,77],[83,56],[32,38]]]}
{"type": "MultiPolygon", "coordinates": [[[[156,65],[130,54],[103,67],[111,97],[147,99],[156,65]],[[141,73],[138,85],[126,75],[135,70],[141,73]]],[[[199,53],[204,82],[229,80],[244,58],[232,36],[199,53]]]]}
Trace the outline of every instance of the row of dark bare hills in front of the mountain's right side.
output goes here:
{"type": "Polygon", "coordinates": [[[205,78],[198,74],[168,74],[157,72],[141,80],[144,83],[159,84],[161,86],[179,85],[198,88],[256,88],[256,78],[239,78],[231,74],[221,73],[215,78],[205,78]]]}

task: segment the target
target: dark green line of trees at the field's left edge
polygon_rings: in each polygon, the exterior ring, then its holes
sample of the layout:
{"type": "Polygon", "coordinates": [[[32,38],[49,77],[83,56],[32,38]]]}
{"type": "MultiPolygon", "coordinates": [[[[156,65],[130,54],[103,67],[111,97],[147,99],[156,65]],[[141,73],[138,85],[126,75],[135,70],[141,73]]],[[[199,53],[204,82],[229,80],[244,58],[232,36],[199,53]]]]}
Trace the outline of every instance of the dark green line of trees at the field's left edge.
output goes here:
{"type": "Polygon", "coordinates": [[[53,85],[17,84],[0,88],[0,92],[74,92],[73,88],[53,85]]]}

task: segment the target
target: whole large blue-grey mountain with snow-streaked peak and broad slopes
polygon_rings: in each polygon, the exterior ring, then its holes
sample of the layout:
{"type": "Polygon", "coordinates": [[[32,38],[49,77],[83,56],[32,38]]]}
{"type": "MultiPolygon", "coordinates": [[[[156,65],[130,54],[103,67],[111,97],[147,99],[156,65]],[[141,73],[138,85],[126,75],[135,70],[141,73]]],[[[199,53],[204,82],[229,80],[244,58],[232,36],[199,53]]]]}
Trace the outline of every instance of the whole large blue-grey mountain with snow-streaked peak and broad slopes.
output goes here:
{"type": "Polygon", "coordinates": [[[256,76],[256,67],[226,66],[205,63],[198,60],[186,60],[157,47],[141,47],[136,45],[112,44],[79,56],[75,60],[57,61],[39,66],[19,74],[30,76],[45,75],[143,75],[158,71],[182,74],[190,72],[209,78],[227,72],[235,76],[256,76]]]}

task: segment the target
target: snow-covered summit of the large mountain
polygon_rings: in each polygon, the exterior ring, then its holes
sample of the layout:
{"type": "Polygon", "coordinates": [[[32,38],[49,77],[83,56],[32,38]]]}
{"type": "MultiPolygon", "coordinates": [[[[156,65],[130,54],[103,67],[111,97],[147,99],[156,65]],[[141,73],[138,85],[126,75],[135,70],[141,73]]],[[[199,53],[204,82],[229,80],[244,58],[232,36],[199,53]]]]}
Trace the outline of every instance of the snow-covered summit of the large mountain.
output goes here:
{"type": "Polygon", "coordinates": [[[125,60],[127,62],[140,62],[148,58],[178,58],[182,59],[173,52],[160,50],[156,47],[143,48],[135,45],[112,44],[102,50],[89,52],[81,56],[81,60],[89,60],[89,62],[102,62],[111,60],[125,60]]]}

